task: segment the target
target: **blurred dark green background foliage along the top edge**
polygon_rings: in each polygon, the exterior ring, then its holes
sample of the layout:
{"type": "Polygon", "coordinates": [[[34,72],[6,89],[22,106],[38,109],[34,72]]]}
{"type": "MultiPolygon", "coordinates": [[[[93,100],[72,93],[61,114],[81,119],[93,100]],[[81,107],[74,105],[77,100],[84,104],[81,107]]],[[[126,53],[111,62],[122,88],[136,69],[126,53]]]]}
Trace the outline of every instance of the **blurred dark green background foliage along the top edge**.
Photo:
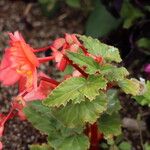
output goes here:
{"type": "MultiPolygon", "coordinates": [[[[138,19],[145,16],[143,11],[136,5],[133,5],[129,0],[123,0],[118,10],[118,17],[110,11],[110,7],[118,5],[118,1],[104,0],[38,0],[44,14],[52,17],[57,12],[62,3],[69,7],[83,11],[87,15],[85,26],[85,34],[92,37],[103,37],[117,30],[118,27],[130,28],[138,19]],[[114,4],[116,3],[116,4],[114,4]]],[[[146,5],[145,10],[149,7],[146,5]]],[[[143,41],[142,41],[143,42],[143,41]]]]}

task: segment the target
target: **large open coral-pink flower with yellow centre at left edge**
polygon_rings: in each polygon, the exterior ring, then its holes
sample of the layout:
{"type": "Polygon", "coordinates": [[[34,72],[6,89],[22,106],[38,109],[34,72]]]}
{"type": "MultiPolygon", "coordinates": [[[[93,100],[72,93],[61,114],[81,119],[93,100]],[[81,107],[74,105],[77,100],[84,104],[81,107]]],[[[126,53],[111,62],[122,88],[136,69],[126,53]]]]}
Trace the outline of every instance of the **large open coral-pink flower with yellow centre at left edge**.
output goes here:
{"type": "Polygon", "coordinates": [[[16,31],[9,33],[10,47],[5,49],[0,65],[0,81],[4,85],[12,85],[22,80],[27,90],[36,86],[39,61],[22,35],[16,31]]]}

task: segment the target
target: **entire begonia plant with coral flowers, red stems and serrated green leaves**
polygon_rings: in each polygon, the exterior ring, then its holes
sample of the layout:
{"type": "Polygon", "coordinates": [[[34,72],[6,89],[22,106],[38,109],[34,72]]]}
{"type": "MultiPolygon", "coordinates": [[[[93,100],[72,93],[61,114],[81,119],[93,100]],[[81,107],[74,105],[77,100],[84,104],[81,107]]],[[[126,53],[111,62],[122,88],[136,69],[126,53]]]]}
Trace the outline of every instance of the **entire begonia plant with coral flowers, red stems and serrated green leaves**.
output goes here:
{"type": "Polygon", "coordinates": [[[121,133],[118,90],[133,96],[142,92],[140,81],[129,79],[120,66],[119,50],[78,34],[65,34],[40,49],[27,44],[18,31],[9,37],[0,81],[4,86],[18,84],[18,95],[9,113],[0,114],[0,136],[6,121],[17,115],[47,135],[46,143],[31,145],[31,150],[99,150],[103,139],[112,144],[121,133]],[[42,51],[52,53],[38,58],[36,53],[42,51]],[[48,61],[65,72],[61,81],[40,71],[48,61]]]}

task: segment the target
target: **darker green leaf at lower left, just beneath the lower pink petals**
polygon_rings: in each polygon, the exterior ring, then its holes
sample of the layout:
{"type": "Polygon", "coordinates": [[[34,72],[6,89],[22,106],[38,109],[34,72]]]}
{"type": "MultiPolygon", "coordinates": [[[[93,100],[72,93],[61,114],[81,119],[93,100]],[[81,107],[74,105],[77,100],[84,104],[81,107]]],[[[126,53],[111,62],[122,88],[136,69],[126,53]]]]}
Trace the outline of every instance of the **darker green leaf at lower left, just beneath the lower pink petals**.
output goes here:
{"type": "Polygon", "coordinates": [[[41,101],[28,103],[24,108],[24,113],[32,125],[45,134],[51,133],[55,129],[55,120],[49,108],[43,106],[41,101]]]}

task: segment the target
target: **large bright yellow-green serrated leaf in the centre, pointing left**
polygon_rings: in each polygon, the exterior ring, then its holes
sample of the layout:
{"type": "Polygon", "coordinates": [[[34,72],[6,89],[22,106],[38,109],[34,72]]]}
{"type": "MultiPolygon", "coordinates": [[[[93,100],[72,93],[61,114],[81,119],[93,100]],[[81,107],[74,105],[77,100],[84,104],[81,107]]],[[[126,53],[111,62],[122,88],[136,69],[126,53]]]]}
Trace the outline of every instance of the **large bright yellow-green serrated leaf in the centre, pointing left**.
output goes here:
{"type": "Polygon", "coordinates": [[[59,107],[65,106],[70,100],[76,104],[84,101],[84,95],[93,100],[99,94],[99,89],[106,88],[106,83],[106,80],[100,75],[91,75],[88,79],[82,77],[69,78],[56,87],[43,101],[43,104],[49,107],[59,107]]]}

